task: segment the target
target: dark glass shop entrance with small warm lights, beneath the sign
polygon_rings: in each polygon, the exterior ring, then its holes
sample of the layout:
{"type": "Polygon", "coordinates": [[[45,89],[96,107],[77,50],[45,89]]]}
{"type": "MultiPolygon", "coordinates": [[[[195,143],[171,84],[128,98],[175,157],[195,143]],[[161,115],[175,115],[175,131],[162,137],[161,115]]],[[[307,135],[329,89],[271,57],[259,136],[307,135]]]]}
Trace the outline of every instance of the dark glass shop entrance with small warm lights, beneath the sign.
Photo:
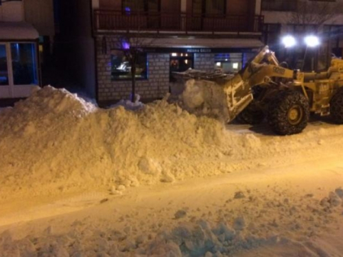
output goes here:
{"type": "Polygon", "coordinates": [[[173,72],[183,72],[193,69],[193,53],[171,53],[169,62],[169,80],[174,82],[173,72]]]}

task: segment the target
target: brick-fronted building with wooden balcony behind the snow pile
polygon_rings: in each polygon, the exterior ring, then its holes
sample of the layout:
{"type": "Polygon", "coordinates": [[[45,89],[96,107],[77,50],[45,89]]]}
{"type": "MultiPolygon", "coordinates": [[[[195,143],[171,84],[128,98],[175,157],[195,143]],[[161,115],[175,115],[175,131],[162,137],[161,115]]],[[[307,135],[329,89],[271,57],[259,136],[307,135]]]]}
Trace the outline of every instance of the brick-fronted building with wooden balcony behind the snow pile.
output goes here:
{"type": "Polygon", "coordinates": [[[92,0],[91,4],[64,0],[61,4],[71,12],[69,19],[60,20],[61,32],[68,27],[62,34],[72,38],[68,65],[99,103],[129,97],[131,67],[123,50],[137,38],[142,51],[137,58],[136,93],[143,99],[169,93],[174,71],[239,71],[263,45],[263,16],[256,0],[92,0]],[[128,42],[118,44],[121,36],[128,42]]]}

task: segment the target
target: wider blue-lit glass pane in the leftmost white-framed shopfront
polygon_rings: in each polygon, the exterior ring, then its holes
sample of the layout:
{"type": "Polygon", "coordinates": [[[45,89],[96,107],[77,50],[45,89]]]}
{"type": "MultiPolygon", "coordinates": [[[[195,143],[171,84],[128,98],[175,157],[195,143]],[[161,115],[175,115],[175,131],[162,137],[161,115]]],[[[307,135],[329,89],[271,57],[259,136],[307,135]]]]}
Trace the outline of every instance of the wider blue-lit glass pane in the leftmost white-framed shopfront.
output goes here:
{"type": "Polygon", "coordinates": [[[14,85],[38,84],[36,47],[33,43],[11,43],[14,85]]]}

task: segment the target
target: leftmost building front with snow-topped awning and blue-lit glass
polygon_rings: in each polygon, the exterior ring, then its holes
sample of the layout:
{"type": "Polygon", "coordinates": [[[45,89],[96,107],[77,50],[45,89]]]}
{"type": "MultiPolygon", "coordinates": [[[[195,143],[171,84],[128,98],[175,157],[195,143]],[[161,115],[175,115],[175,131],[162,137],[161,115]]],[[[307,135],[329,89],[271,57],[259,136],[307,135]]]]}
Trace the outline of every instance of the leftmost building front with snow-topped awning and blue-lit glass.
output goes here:
{"type": "Polygon", "coordinates": [[[40,85],[44,36],[54,34],[51,17],[52,0],[0,0],[0,99],[27,97],[40,85]]]}

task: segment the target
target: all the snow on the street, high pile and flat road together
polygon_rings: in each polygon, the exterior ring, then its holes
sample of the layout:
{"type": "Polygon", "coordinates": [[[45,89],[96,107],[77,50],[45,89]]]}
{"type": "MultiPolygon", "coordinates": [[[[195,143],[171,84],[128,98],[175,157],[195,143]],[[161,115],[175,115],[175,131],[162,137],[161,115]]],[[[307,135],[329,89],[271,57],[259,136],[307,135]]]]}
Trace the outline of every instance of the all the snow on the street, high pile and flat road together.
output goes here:
{"type": "Polygon", "coordinates": [[[0,110],[0,256],[343,256],[343,127],[275,136],[167,99],[0,110]]]}

